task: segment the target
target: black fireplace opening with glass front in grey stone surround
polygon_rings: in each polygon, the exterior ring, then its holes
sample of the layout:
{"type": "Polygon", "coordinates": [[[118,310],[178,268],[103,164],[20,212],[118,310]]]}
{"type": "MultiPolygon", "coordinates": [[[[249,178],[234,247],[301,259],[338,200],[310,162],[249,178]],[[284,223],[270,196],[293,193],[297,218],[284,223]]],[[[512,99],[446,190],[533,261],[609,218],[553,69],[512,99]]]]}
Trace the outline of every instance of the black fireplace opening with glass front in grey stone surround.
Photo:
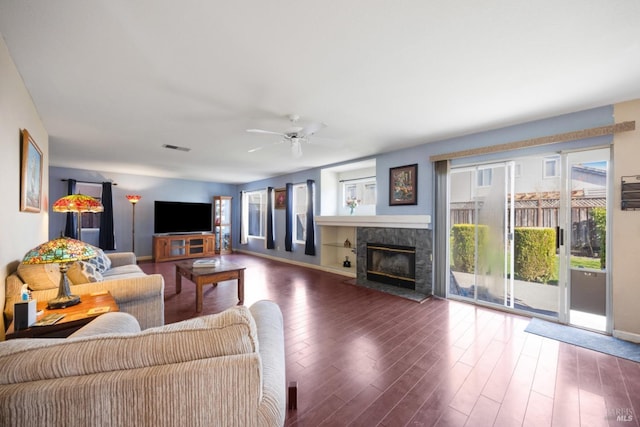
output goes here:
{"type": "Polygon", "coordinates": [[[416,248],[367,243],[367,280],[416,289],[416,248]]]}

